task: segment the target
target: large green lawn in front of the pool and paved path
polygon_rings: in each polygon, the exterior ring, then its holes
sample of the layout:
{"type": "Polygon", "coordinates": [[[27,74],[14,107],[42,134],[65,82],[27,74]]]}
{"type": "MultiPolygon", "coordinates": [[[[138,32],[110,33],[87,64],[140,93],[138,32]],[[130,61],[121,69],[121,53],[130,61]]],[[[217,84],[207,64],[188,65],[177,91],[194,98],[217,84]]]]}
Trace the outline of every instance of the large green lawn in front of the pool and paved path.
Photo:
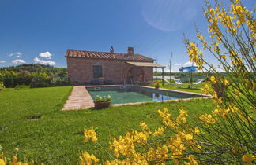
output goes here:
{"type": "Polygon", "coordinates": [[[99,159],[109,159],[97,145],[83,143],[83,130],[94,126],[100,144],[108,148],[109,141],[130,129],[139,129],[146,121],[149,127],[159,126],[157,108],[167,107],[177,114],[179,108],[191,116],[213,109],[212,101],[171,101],[126,105],[104,110],[60,111],[70,94],[71,86],[49,87],[0,92],[0,145],[7,156],[34,159],[45,164],[76,164],[79,153],[88,151],[99,159]],[[41,116],[40,119],[28,119],[41,116]]]}

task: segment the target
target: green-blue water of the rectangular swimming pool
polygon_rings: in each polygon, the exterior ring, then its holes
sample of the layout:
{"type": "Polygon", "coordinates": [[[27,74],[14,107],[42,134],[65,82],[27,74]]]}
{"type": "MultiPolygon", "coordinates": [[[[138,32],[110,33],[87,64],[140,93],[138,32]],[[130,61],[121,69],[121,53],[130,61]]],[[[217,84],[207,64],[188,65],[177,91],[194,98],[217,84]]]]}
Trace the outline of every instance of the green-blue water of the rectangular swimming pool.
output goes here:
{"type": "Polygon", "coordinates": [[[112,97],[111,104],[125,104],[147,101],[167,101],[191,97],[201,97],[197,94],[184,94],[182,92],[171,92],[167,90],[155,90],[141,86],[104,86],[86,87],[88,93],[94,100],[96,96],[112,97]]]}

